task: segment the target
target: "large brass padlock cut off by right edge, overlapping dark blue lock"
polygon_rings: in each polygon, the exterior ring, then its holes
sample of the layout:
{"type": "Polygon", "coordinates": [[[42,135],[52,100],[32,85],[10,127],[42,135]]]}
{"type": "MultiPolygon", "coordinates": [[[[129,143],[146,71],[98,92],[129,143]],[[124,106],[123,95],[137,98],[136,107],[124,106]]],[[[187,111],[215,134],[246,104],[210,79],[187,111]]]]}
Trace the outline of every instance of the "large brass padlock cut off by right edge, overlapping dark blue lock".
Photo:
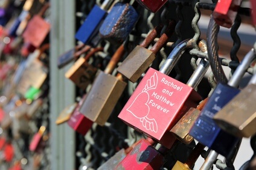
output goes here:
{"type": "MultiPolygon", "coordinates": [[[[255,55],[252,49],[248,55],[255,55]]],[[[256,133],[254,101],[256,97],[256,74],[252,76],[248,86],[223,107],[213,120],[228,133],[238,138],[249,138],[256,133]]]]}

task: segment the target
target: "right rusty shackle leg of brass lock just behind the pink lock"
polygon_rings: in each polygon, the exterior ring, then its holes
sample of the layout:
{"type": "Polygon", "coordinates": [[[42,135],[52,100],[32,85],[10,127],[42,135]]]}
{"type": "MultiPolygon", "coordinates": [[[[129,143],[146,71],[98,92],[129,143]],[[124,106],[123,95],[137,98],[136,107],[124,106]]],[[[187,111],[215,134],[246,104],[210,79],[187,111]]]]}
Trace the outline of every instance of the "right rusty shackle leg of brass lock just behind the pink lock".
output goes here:
{"type": "Polygon", "coordinates": [[[170,20],[167,28],[165,29],[164,34],[159,38],[159,40],[154,44],[154,46],[150,49],[153,53],[158,53],[159,50],[167,43],[168,39],[173,35],[174,29],[176,26],[176,22],[174,20],[170,20]]]}

